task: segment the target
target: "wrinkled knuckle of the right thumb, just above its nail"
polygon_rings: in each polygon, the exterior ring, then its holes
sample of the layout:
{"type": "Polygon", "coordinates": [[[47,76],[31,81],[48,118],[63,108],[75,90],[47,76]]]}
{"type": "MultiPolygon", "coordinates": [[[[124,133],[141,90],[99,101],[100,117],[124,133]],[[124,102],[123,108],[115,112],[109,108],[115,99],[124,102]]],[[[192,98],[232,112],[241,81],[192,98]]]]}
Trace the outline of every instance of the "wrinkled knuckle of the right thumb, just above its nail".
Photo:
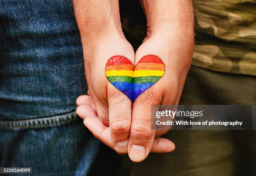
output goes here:
{"type": "Polygon", "coordinates": [[[143,139],[150,139],[153,134],[154,130],[151,127],[143,125],[143,124],[136,124],[135,127],[131,129],[131,136],[133,139],[141,140],[143,139]]]}

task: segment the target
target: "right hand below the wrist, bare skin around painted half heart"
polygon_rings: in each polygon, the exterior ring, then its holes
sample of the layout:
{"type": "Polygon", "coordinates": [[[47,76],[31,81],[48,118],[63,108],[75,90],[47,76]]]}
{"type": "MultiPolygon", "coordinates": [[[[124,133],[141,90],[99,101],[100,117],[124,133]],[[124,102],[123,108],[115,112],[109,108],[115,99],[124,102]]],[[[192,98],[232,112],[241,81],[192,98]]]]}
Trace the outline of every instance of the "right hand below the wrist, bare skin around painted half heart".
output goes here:
{"type": "Polygon", "coordinates": [[[167,132],[151,130],[151,105],[178,104],[191,63],[193,42],[184,41],[184,35],[174,31],[173,27],[166,33],[165,30],[166,27],[164,30],[159,28],[150,35],[135,56],[135,64],[149,54],[160,57],[165,64],[161,79],[133,103],[128,154],[136,162],[148,156],[155,137],[167,132]]]}

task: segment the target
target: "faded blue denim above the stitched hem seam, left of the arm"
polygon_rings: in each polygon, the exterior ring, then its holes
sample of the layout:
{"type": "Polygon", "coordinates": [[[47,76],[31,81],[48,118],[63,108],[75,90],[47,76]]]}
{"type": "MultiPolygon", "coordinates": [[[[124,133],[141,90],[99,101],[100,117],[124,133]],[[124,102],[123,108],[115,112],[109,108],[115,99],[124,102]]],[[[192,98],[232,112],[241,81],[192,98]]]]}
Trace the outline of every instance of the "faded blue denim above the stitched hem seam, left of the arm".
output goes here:
{"type": "Polygon", "coordinates": [[[74,111],[87,87],[71,0],[1,0],[0,46],[0,120],[74,111]]]}

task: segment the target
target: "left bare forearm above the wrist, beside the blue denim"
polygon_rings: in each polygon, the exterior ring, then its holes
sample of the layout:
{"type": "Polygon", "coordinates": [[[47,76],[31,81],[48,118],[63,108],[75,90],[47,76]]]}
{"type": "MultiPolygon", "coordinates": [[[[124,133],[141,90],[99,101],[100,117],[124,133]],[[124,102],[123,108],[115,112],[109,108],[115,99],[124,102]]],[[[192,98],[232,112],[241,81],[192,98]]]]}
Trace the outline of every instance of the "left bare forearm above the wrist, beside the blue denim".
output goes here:
{"type": "Polygon", "coordinates": [[[73,0],[73,5],[82,40],[122,33],[118,0],[73,0]]]}

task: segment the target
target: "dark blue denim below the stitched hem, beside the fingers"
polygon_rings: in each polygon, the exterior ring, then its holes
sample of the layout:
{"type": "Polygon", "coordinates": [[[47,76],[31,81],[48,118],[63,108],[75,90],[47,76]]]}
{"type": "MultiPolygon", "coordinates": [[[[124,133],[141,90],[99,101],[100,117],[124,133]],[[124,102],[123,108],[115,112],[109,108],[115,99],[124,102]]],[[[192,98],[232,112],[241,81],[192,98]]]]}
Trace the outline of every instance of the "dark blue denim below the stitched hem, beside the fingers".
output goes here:
{"type": "Polygon", "coordinates": [[[75,113],[0,126],[0,134],[0,166],[32,167],[36,176],[87,175],[100,145],[75,113]]]}

